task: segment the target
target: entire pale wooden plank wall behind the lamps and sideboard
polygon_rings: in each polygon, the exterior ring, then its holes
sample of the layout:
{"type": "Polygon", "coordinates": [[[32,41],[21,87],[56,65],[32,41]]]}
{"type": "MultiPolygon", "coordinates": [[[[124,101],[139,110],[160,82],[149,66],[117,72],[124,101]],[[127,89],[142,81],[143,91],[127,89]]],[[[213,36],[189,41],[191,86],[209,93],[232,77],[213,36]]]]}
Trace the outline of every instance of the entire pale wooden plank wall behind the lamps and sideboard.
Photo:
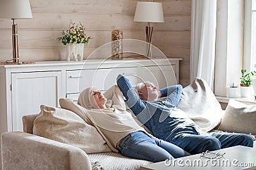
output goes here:
{"type": "MultiPolygon", "coordinates": [[[[142,0],[141,0],[142,1],[142,0]]],[[[147,0],[145,0],[147,1],[147,0]]],[[[149,0],[148,0],[149,1],[149,0]]],[[[155,0],[163,3],[164,23],[154,23],[153,44],[166,57],[182,57],[180,83],[189,82],[191,0],[155,0]],[[186,72],[186,73],[184,73],[186,72]]],[[[57,41],[68,22],[81,21],[93,39],[84,58],[111,41],[111,30],[125,39],[145,40],[147,23],[133,22],[137,0],[30,0],[33,18],[16,20],[21,60],[65,60],[66,48],[57,41]]],[[[12,59],[12,20],[0,20],[0,62],[12,59]]],[[[108,50],[108,49],[105,49],[108,50]]],[[[104,51],[104,50],[103,50],[104,51]]],[[[98,54],[104,57],[104,52],[98,54]]]]}

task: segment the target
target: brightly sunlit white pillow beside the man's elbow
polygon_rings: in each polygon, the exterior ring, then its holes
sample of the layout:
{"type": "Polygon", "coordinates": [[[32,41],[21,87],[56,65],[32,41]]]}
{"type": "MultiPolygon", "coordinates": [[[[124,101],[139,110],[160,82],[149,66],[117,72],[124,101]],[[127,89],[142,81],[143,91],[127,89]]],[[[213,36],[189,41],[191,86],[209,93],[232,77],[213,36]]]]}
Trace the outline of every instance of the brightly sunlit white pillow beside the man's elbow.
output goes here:
{"type": "Polygon", "coordinates": [[[182,89],[178,105],[204,132],[211,131],[220,124],[223,110],[211,88],[202,78],[182,89]]]}

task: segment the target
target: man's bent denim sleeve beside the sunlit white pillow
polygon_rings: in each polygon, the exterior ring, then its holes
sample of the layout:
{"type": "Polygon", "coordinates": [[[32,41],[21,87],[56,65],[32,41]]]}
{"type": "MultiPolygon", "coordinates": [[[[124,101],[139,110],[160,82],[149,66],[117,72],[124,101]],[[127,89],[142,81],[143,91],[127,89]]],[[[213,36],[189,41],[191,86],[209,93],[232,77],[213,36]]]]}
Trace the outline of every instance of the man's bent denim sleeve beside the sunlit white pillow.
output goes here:
{"type": "Polygon", "coordinates": [[[161,97],[167,97],[165,100],[172,103],[175,107],[178,106],[180,96],[182,94],[182,85],[172,85],[160,89],[161,97]]]}

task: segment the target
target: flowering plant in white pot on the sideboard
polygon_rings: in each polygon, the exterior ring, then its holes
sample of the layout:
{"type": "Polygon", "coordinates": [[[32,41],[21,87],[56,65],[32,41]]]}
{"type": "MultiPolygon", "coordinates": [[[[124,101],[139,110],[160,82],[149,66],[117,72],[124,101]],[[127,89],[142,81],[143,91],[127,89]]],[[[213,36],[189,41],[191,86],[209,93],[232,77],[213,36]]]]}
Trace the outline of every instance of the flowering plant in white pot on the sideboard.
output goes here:
{"type": "Polygon", "coordinates": [[[84,44],[90,43],[91,36],[87,36],[86,29],[81,22],[75,24],[70,20],[69,29],[61,31],[62,36],[57,38],[63,45],[67,45],[67,60],[83,60],[84,44]]]}

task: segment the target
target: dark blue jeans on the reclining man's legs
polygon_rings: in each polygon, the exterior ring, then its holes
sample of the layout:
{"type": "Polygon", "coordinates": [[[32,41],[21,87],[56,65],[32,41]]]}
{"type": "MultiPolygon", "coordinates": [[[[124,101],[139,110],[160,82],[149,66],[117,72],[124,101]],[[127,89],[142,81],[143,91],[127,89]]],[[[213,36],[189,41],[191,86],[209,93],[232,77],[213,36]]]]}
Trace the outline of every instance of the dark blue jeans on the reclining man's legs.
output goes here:
{"type": "Polygon", "coordinates": [[[231,146],[253,147],[253,139],[247,134],[209,132],[205,135],[178,134],[172,139],[166,139],[191,154],[202,153],[206,150],[220,150],[231,146]]]}

